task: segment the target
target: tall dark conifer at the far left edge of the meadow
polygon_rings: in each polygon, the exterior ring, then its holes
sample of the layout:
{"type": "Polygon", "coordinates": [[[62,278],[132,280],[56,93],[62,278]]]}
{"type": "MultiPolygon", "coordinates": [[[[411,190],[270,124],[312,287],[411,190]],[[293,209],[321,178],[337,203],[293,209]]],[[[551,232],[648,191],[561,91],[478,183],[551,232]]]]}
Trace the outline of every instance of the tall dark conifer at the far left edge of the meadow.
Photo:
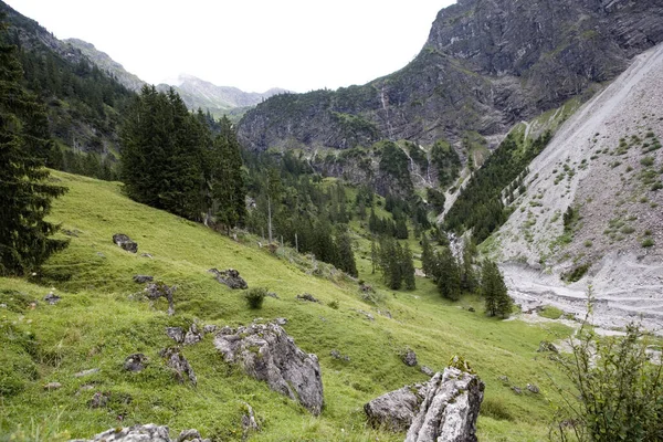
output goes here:
{"type": "Polygon", "coordinates": [[[45,110],[21,78],[15,46],[0,43],[0,275],[33,272],[67,244],[50,238],[57,227],[44,221],[65,188],[48,183],[45,110]]]}

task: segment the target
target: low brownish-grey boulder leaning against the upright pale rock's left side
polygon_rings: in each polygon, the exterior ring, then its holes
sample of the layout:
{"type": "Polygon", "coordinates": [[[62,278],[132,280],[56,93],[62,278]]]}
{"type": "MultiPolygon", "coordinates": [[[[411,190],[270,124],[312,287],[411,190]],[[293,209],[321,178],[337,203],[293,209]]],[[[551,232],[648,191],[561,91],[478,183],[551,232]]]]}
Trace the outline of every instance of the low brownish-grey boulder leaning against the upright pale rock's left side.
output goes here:
{"type": "Polygon", "coordinates": [[[419,412],[423,400],[422,385],[407,386],[382,394],[364,406],[371,425],[386,427],[391,431],[407,430],[419,412]]]}

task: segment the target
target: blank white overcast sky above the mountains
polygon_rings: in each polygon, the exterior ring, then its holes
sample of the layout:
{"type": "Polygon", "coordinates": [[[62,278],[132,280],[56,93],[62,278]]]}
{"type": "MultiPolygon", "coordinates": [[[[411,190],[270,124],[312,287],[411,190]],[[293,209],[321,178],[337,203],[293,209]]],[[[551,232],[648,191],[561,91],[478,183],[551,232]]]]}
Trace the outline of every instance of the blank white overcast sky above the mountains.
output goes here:
{"type": "Polygon", "coordinates": [[[455,0],[6,0],[150,83],[181,73],[245,92],[364,84],[419,53],[455,0]]]}

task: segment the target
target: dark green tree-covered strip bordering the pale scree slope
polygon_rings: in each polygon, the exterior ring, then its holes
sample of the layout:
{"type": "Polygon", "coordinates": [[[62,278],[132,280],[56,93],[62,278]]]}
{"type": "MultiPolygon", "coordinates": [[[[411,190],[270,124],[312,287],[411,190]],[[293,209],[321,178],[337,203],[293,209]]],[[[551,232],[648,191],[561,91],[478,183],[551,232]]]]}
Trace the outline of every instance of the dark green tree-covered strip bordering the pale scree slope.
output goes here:
{"type": "Polygon", "coordinates": [[[504,189],[507,188],[509,196],[522,186],[527,166],[544,150],[550,137],[547,131],[530,146],[523,147],[524,141],[509,134],[463,188],[444,219],[445,229],[459,233],[472,229],[477,244],[488,238],[508,218],[504,210],[504,189]]]}

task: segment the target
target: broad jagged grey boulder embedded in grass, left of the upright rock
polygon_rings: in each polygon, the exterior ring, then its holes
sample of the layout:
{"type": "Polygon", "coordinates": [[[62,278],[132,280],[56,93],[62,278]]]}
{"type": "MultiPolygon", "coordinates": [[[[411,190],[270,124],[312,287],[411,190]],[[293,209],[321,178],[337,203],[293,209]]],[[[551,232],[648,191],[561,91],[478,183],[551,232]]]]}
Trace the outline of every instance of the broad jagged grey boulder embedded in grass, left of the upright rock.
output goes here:
{"type": "Polygon", "coordinates": [[[277,324],[252,324],[236,330],[225,327],[214,347],[227,362],[241,366],[249,376],[298,400],[313,414],[323,409],[323,381],[317,356],[305,354],[277,324]]]}

